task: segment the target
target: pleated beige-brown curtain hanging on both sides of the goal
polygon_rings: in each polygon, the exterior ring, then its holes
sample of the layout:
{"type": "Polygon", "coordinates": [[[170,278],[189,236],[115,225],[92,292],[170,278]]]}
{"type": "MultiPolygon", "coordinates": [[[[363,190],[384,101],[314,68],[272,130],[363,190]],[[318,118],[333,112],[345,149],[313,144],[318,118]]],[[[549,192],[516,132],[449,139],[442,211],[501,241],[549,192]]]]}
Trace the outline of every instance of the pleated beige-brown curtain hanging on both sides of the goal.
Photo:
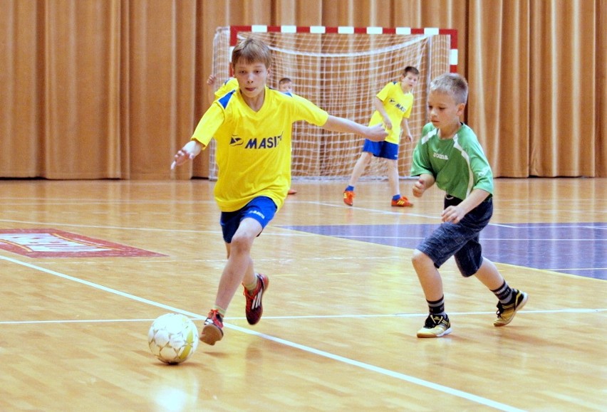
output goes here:
{"type": "Polygon", "coordinates": [[[607,0],[0,0],[0,178],[169,171],[217,26],[455,28],[495,176],[607,176],[607,0]]]}

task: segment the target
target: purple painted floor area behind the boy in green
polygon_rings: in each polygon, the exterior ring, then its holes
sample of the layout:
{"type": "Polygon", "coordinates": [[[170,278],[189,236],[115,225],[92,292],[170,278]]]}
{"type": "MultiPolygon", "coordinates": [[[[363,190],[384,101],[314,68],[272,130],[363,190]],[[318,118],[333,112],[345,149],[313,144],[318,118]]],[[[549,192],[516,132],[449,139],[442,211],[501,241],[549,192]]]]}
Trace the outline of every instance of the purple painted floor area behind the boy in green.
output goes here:
{"type": "MultiPolygon", "coordinates": [[[[436,225],[281,226],[324,236],[415,248],[436,225]]],[[[607,280],[607,223],[489,224],[483,254],[499,263],[607,280]]]]}

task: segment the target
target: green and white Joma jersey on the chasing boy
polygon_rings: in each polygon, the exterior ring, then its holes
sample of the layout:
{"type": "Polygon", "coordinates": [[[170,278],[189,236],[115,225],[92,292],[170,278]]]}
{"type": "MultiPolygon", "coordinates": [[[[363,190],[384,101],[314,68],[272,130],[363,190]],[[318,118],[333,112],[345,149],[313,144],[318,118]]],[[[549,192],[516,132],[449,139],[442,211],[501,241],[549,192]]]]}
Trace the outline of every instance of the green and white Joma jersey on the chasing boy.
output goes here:
{"type": "Polygon", "coordinates": [[[460,199],[472,189],[493,194],[493,173],[477,135],[463,124],[450,139],[441,139],[439,130],[428,123],[413,152],[411,176],[431,174],[436,185],[460,199]]]}

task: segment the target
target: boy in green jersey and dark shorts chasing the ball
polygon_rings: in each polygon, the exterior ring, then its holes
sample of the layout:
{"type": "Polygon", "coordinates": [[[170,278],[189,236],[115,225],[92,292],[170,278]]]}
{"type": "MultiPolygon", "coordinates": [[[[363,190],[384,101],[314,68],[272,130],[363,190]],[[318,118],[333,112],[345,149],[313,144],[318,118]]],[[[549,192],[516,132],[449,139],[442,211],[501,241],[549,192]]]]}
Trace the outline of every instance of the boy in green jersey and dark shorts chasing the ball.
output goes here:
{"type": "Polygon", "coordinates": [[[493,174],[472,129],[460,122],[468,97],[465,78],[440,75],[430,83],[430,123],[413,152],[411,175],[418,176],[413,196],[433,184],[446,192],[442,224],[413,252],[413,267],[430,309],[417,337],[441,337],[451,332],[445,295],[437,268],[455,256],[464,277],[475,275],[496,296],[494,326],[509,324],[525,305],[527,294],[509,287],[495,265],[482,255],[479,233],[493,213],[493,174]]]}

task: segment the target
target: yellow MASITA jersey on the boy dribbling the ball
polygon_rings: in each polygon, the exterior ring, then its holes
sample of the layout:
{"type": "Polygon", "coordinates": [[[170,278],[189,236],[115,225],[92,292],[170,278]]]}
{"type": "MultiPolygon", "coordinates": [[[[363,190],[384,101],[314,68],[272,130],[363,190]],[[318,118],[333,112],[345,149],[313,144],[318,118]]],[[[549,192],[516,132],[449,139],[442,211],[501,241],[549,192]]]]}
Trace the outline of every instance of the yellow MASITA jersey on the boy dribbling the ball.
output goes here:
{"type": "Polygon", "coordinates": [[[192,140],[204,147],[212,138],[217,142],[214,196],[221,211],[237,211],[259,196],[268,196],[281,208],[291,187],[291,128],[299,120],[322,126],[328,113],[304,97],[267,86],[257,112],[240,90],[212,103],[192,140]]]}

